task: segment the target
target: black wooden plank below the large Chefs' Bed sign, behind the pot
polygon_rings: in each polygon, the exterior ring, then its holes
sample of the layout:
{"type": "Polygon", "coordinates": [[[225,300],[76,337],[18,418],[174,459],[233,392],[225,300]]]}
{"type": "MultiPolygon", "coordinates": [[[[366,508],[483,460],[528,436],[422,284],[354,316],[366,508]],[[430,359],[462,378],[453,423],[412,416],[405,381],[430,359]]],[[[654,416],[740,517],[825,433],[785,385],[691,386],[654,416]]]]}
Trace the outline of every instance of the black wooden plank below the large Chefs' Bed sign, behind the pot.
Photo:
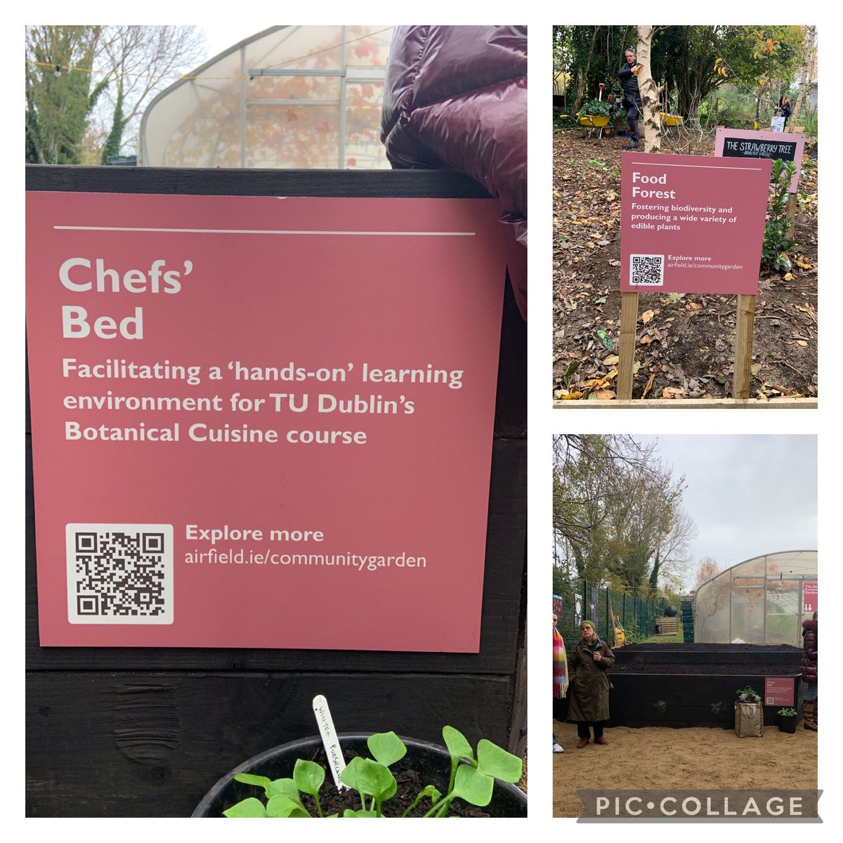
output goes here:
{"type": "Polygon", "coordinates": [[[26,813],[188,817],[235,765],[316,734],[314,695],[340,733],[394,729],[442,744],[507,743],[507,679],[411,674],[30,674],[26,813]],[[479,705],[465,706],[476,700],[479,705]]]}

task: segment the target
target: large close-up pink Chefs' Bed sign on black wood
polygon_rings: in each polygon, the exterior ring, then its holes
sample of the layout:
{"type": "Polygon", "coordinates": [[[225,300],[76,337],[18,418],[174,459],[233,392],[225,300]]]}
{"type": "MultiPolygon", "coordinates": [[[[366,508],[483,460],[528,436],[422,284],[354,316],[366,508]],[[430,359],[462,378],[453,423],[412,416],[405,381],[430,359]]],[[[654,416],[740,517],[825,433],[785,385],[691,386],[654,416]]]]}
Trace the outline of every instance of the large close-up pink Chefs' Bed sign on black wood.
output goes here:
{"type": "Polygon", "coordinates": [[[42,645],[477,652],[497,202],[26,212],[42,645]]]}

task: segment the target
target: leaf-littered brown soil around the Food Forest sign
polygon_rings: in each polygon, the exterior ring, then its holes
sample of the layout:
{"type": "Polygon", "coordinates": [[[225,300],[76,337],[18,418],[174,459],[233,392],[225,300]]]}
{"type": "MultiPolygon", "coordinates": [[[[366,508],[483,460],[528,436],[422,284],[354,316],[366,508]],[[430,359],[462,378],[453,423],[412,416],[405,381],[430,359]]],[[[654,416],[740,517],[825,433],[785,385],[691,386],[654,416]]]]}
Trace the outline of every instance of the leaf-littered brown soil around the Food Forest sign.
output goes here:
{"type": "MultiPolygon", "coordinates": [[[[578,129],[554,135],[556,400],[615,397],[625,143],[626,138],[587,138],[578,129]]],[[[711,154],[712,149],[708,137],[685,138],[677,148],[663,144],[663,152],[711,154]]],[[[817,163],[808,156],[800,191],[806,196],[795,221],[792,273],[761,272],[750,384],[754,398],[817,395],[817,163]]],[[[730,396],[735,309],[735,296],[640,293],[633,397],[730,396]]]]}

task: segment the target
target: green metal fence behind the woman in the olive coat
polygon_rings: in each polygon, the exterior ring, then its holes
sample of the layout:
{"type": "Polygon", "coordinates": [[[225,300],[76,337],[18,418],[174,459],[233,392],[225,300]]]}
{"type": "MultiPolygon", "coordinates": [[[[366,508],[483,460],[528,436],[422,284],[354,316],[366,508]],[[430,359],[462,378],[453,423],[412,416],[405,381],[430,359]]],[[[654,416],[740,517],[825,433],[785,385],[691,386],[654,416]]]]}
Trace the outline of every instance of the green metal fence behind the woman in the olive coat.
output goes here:
{"type": "Polygon", "coordinates": [[[559,617],[556,628],[565,642],[577,642],[579,625],[590,620],[597,634],[610,646],[615,643],[611,615],[626,631],[626,641],[641,641],[656,634],[656,618],[664,614],[664,600],[648,600],[645,589],[615,591],[580,580],[557,583],[553,610],[559,617]]]}

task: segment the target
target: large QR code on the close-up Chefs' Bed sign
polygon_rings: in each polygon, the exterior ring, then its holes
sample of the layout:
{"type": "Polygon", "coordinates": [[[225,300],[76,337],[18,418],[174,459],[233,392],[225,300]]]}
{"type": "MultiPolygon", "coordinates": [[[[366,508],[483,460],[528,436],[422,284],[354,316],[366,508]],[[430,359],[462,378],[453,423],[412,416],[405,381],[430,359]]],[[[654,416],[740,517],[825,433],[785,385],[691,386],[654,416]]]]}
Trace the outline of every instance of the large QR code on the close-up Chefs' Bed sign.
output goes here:
{"type": "Polygon", "coordinates": [[[67,620],[173,622],[172,524],[67,524],[67,620]]]}

